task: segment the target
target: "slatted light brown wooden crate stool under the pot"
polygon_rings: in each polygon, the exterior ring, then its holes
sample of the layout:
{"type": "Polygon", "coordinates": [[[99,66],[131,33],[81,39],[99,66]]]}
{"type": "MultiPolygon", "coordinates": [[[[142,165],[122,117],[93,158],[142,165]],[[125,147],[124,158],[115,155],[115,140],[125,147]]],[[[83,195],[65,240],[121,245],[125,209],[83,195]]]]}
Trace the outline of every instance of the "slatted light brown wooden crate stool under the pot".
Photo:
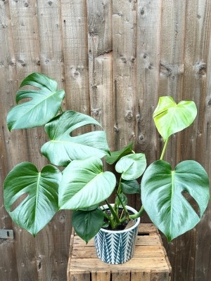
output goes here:
{"type": "Polygon", "coordinates": [[[120,265],[98,259],[94,240],[86,245],[74,232],[71,235],[68,281],[170,281],[171,270],[158,229],[152,223],[140,224],[134,257],[120,265]]]}

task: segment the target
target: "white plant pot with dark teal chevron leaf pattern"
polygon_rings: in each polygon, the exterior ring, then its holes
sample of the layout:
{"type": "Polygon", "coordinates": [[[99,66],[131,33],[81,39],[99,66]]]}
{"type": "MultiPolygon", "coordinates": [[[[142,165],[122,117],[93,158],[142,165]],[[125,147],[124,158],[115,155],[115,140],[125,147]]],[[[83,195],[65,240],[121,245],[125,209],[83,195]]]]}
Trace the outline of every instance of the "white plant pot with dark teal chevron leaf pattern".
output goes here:
{"type": "MultiPolygon", "coordinates": [[[[127,207],[127,209],[132,208],[127,207]]],[[[132,211],[136,213],[136,210],[132,209],[132,211]]],[[[132,228],[120,231],[101,228],[94,237],[98,258],[111,264],[125,263],[132,259],[139,223],[140,218],[136,219],[136,224],[132,228]]]]}

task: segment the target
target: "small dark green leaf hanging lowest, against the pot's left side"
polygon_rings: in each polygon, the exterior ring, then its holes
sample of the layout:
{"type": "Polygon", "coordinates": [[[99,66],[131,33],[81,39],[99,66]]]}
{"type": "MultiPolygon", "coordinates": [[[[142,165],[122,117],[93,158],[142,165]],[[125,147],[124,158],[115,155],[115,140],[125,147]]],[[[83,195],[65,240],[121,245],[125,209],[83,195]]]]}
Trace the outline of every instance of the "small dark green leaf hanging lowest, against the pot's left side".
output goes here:
{"type": "Polygon", "coordinates": [[[72,226],[75,233],[86,243],[93,238],[103,226],[103,211],[100,208],[92,211],[73,211],[72,226]]]}

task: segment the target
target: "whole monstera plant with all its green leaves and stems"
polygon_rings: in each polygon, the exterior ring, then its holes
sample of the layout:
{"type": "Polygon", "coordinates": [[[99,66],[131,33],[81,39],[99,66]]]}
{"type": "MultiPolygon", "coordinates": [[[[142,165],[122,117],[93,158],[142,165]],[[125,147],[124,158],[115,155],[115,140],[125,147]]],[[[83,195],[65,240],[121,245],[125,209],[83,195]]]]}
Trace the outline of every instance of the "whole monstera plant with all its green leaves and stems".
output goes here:
{"type": "Polygon", "coordinates": [[[207,174],[193,160],[181,162],[174,169],[163,160],[170,136],[190,126],[196,118],[193,101],[177,104],[170,96],[160,98],[153,119],[164,148],[160,159],[146,169],[145,155],[135,153],[133,143],[110,152],[101,124],[88,115],[63,111],[64,96],[55,80],[32,73],[20,84],[18,105],[8,112],[10,131],[45,127],[49,141],[42,145],[41,153],[51,163],[39,171],[34,164],[23,162],[6,177],[4,203],[15,223],[36,235],[58,210],[72,209],[72,225],[86,242],[101,228],[117,230],[129,224],[144,210],[169,241],[196,226],[209,200],[207,174]],[[86,125],[101,129],[72,136],[86,125]],[[116,174],[104,171],[103,157],[108,164],[115,164],[116,174]],[[60,166],[64,167],[62,171],[60,166]],[[142,174],[140,187],[136,179],[142,174]],[[131,213],[127,194],[140,192],[143,206],[131,213]],[[188,202],[186,192],[196,201],[198,210],[188,202]],[[110,204],[112,193],[115,202],[110,204]]]}

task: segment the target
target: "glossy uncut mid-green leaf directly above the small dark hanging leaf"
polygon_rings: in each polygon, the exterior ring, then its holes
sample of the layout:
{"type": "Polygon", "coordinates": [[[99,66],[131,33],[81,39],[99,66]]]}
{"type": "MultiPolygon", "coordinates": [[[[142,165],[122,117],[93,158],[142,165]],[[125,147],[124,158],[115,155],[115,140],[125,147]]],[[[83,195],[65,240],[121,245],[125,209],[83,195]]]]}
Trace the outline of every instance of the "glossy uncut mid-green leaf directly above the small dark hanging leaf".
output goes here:
{"type": "Polygon", "coordinates": [[[63,171],[58,192],[60,209],[84,209],[106,200],[116,184],[115,175],[103,172],[97,157],[73,160],[63,171]]]}

